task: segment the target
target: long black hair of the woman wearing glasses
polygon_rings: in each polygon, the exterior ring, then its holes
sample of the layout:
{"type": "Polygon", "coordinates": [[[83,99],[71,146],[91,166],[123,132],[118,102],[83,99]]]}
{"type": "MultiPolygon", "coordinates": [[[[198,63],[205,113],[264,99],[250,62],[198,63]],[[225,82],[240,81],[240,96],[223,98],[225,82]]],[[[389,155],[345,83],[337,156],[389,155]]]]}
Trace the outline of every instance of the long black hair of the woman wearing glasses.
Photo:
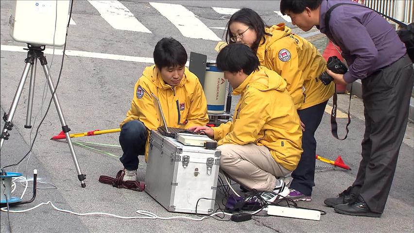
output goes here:
{"type": "Polygon", "coordinates": [[[268,27],[265,25],[263,19],[259,16],[258,13],[256,13],[254,10],[250,8],[242,8],[236,13],[234,13],[227,23],[227,32],[225,34],[225,41],[228,44],[233,44],[235,42],[231,41],[230,38],[233,36],[233,34],[230,32],[230,24],[233,22],[240,22],[244,23],[247,26],[249,26],[251,29],[255,30],[257,34],[256,41],[253,43],[252,50],[257,50],[259,47],[260,40],[263,38],[263,43],[266,41],[265,35],[272,35],[270,33],[266,33],[264,31],[265,27],[268,27]]]}

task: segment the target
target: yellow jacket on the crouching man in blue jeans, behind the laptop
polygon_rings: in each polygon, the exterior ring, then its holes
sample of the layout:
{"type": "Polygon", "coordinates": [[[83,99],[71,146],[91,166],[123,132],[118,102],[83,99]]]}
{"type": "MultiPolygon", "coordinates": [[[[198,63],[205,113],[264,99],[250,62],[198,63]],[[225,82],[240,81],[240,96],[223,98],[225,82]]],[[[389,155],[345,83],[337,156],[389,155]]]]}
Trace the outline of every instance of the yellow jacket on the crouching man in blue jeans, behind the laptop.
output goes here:
{"type": "MultiPolygon", "coordinates": [[[[135,83],[131,108],[120,127],[128,121],[139,120],[144,123],[150,135],[151,130],[161,126],[161,118],[157,116],[151,93],[161,102],[168,127],[188,129],[208,123],[207,100],[197,76],[186,67],[180,84],[173,87],[162,80],[154,65],[146,67],[135,83]]],[[[148,158],[149,138],[150,136],[146,143],[145,161],[148,158]]]]}

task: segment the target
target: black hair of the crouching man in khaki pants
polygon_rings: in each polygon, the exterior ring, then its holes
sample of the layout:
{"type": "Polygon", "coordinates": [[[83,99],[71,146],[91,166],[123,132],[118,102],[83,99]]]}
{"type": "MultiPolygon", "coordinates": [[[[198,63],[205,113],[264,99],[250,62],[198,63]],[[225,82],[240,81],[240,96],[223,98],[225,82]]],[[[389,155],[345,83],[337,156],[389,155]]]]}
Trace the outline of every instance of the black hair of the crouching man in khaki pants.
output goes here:
{"type": "Polygon", "coordinates": [[[256,52],[243,44],[230,44],[220,50],[216,59],[217,67],[232,73],[243,70],[250,75],[259,67],[259,58],[256,52]]]}

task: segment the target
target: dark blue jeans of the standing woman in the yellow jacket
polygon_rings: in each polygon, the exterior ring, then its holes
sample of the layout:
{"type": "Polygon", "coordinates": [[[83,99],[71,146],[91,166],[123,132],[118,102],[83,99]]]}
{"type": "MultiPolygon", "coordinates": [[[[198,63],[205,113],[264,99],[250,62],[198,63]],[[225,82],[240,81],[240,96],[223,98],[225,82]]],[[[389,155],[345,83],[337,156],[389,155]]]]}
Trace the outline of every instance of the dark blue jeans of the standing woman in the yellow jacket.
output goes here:
{"type": "Polygon", "coordinates": [[[303,153],[300,157],[299,164],[292,172],[293,180],[289,187],[303,193],[306,196],[312,195],[312,187],[315,186],[315,131],[321,123],[327,103],[328,100],[297,111],[300,120],[305,124],[305,131],[302,135],[303,153]]]}

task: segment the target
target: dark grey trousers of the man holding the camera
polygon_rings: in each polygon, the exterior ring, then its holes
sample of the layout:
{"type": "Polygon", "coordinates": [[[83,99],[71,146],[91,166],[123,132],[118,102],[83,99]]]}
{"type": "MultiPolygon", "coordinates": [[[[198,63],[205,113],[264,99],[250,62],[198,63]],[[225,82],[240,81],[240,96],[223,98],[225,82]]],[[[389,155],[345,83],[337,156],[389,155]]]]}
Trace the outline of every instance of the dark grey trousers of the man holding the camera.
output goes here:
{"type": "Polygon", "coordinates": [[[407,54],[362,80],[365,133],[352,192],[360,194],[372,212],[382,213],[388,199],[407,126],[413,82],[413,64],[407,54]]]}

